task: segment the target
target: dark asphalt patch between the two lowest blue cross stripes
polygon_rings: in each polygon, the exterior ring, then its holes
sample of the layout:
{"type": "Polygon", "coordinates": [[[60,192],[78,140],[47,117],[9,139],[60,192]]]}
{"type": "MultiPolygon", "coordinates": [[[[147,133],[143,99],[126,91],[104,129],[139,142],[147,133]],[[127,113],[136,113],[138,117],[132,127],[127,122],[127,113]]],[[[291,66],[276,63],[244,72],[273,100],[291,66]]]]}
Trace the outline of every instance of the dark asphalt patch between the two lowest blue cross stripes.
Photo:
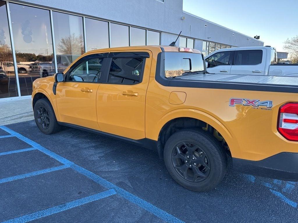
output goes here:
{"type": "Polygon", "coordinates": [[[103,186],[73,169],[60,169],[0,184],[4,197],[0,221],[105,191],[103,186]]]}

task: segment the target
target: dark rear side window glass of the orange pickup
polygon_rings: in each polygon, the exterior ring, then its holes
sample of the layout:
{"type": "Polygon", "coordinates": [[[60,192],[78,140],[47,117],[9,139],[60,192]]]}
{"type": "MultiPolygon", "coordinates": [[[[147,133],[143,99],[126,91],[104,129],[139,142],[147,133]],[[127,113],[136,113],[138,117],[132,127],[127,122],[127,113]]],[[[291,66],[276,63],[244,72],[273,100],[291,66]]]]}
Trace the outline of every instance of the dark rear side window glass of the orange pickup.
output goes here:
{"type": "Polygon", "coordinates": [[[113,58],[108,83],[138,84],[142,81],[144,58],[113,58]]]}

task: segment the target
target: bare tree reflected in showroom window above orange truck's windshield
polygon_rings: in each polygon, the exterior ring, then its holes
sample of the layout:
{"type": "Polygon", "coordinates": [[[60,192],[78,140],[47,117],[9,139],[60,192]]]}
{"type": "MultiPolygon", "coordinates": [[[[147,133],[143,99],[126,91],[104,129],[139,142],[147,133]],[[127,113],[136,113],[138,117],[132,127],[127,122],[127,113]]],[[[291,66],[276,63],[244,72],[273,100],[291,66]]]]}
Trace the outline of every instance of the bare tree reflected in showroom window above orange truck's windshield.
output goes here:
{"type": "Polygon", "coordinates": [[[61,38],[57,48],[60,54],[81,55],[85,51],[83,36],[76,36],[73,33],[68,37],[61,38]]]}

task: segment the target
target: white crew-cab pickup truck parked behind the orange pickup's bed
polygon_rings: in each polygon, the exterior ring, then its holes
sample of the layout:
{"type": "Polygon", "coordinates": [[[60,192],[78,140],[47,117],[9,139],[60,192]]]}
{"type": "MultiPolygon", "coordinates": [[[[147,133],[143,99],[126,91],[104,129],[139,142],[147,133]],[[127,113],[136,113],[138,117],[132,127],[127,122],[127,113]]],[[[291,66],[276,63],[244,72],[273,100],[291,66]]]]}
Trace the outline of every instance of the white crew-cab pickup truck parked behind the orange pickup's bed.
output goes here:
{"type": "Polygon", "coordinates": [[[278,64],[269,46],[226,48],[205,57],[209,73],[298,77],[298,64],[278,64]]]}

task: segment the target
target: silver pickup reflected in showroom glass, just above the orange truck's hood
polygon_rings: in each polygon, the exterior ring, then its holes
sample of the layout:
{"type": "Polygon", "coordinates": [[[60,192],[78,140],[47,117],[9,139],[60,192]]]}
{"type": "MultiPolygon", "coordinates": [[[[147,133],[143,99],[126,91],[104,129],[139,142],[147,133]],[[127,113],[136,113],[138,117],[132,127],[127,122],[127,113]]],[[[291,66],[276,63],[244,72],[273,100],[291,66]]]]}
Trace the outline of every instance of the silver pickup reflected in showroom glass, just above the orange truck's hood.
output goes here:
{"type": "MultiPolygon", "coordinates": [[[[63,72],[75,59],[80,55],[57,55],[57,69],[58,72],[63,72]]],[[[40,77],[51,76],[55,73],[55,62],[54,58],[50,63],[41,63],[39,64],[39,74],[40,77]]]]}

